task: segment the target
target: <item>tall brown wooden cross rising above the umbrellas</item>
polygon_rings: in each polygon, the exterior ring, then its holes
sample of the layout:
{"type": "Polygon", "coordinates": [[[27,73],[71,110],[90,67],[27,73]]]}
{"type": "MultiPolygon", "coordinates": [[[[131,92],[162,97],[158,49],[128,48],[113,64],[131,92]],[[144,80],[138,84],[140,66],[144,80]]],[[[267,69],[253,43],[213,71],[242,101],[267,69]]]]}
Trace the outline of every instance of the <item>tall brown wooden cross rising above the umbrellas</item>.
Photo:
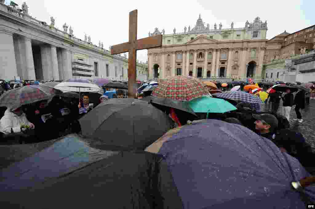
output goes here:
{"type": "MultiPolygon", "coordinates": [[[[129,12],[129,42],[117,44],[111,47],[111,54],[129,52],[128,58],[128,96],[135,98],[137,91],[136,84],[136,61],[137,50],[150,49],[162,46],[162,35],[151,36],[137,40],[137,19],[138,10],[129,12]]],[[[148,70],[149,66],[148,66],[148,70]]]]}

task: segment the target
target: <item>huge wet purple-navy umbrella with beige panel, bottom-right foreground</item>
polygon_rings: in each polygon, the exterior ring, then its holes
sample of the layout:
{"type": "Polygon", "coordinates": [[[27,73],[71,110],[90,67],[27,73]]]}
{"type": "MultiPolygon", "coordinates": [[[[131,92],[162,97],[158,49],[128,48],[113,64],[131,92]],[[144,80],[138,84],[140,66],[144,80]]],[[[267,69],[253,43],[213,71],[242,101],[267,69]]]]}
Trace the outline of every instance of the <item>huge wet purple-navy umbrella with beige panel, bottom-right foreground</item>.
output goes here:
{"type": "Polygon", "coordinates": [[[301,196],[315,200],[315,186],[291,186],[310,176],[296,158],[238,124],[185,125],[146,151],[165,156],[184,208],[305,208],[301,196]]]}

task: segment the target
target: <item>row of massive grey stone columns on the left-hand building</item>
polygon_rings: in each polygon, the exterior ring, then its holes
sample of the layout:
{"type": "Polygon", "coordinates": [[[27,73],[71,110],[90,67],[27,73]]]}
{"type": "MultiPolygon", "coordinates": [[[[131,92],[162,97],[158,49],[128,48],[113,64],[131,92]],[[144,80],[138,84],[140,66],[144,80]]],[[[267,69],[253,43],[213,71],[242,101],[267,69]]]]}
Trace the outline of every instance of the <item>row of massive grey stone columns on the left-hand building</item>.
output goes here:
{"type": "Polygon", "coordinates": [[[32,40],[29,37],[0,30],[0,79],[13,80],[20,76],[22,80],[66,80],[72,78],[72,55],[66,48],[50,44],[41,44],[41,63],[35,73],[32,40]],[[40,74],[41,76],[36,76],[40,74]]]}

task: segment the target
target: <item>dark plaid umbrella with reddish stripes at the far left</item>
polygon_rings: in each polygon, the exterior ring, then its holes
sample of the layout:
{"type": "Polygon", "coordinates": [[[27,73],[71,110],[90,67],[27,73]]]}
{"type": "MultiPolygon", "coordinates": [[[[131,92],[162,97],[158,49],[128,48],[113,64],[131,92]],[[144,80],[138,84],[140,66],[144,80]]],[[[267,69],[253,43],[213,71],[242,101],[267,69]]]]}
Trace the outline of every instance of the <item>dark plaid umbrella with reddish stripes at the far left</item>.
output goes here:
{"type": "Polygon", "coordinates": [[[62,91],[47,85],[26,85],[4,92],[0,97],[0,107],[8,107],[13,110],[22,105],[49,100],[60,94],[62,91]]]}

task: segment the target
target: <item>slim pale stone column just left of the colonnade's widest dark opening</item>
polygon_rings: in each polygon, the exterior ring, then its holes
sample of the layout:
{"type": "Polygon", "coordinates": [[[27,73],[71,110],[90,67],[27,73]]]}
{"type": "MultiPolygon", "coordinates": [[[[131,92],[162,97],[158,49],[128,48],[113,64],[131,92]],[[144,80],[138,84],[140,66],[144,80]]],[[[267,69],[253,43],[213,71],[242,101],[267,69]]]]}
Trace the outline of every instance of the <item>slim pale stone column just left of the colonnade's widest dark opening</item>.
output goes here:
{"type": "Polygon", "coordinates": [[[36,80],[32,42],[30,38],[25,37],[25,63],[26,75],[28,80],[36,80]]]}

